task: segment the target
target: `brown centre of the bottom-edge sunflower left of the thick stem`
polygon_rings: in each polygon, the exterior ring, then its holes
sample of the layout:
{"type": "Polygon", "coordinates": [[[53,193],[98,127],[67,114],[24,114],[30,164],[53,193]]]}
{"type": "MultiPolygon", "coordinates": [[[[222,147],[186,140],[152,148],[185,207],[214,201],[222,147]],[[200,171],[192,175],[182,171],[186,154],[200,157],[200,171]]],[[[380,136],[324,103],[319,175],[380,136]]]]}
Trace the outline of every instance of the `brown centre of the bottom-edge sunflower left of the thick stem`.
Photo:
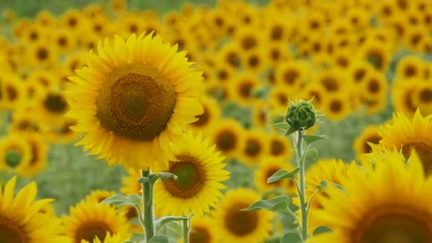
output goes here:
{"type": "Polygon", "coordinates": [[[112,230],[105,222],[91,222],[82,225],[78,230],[75,237],[75,243],[81,243],[82,239],[87,242],[93,242],[95,237],[99,238],[101,242],[104,242],[107,232],[112,234],[112,230]]]}

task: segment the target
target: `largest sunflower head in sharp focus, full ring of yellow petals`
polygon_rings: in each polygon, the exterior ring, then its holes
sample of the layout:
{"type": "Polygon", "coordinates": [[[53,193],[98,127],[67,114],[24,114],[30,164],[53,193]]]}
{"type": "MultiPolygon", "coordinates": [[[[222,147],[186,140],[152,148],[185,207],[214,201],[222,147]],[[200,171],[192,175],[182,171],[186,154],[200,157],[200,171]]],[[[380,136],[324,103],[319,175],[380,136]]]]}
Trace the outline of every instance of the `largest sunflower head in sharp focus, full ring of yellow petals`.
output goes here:
{"type": "Polygon", "coordinates": [[[202,114],[202,77],[192,64],[151,34],[126,42],[116,36],[114,47],[99,42],[66,91],[67,116],[78,120],[72,129],[87,133],[77,145],[134,168],[173,160],[168,145],[202,114]]]}

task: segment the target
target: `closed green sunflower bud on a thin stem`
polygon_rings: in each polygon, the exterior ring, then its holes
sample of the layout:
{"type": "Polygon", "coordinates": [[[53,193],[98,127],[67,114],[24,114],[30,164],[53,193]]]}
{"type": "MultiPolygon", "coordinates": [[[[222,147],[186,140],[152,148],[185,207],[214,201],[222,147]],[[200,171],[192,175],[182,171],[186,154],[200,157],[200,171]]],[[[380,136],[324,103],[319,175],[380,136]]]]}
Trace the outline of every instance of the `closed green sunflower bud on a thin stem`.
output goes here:
{"type": "Polygon", "coordinates": [[[299,130],[306,130],[313,126],[316,121],[315,108],[311,102],[303,99],[296,104],[290,103],[286,109],[285,121],[290,125],[291,133],[299,130]]]}

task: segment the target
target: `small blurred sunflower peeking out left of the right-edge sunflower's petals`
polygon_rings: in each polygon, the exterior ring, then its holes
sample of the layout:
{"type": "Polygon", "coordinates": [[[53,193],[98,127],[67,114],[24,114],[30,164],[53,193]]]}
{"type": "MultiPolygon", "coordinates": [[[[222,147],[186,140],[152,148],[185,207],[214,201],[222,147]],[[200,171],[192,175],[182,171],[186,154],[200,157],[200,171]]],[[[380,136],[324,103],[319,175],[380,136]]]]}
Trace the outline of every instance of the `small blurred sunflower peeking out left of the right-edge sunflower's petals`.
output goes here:
{"type": "Polygon", "coordinates": [[[369,145],[369,143],[378,144],[379,140],[381,139],[382,136],[379,135],[378,133],[378,126],[376,125],[366,126],[362,130],[361,134],[357,136],[353,144],[357,158],[360,158],[360,156],[363,153],[370,153],[372,151],[372,148],[369,145]]]}

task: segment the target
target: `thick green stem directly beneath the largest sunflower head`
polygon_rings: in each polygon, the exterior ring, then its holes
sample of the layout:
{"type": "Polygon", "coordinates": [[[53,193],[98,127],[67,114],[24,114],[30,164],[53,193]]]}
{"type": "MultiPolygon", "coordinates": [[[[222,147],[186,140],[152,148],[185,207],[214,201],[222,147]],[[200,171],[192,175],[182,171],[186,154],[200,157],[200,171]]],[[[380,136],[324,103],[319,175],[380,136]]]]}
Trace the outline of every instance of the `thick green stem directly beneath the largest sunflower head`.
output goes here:
{"type": "Polygon", "coordinates": [[[154,237],[153,222],[153,181],[150,180],[150,168],[147,171],[141,171],[142,177],[148,178],[142,183],[143,200],[144,200],[144,229],[146,229],[146,242],[154,237]]]}

